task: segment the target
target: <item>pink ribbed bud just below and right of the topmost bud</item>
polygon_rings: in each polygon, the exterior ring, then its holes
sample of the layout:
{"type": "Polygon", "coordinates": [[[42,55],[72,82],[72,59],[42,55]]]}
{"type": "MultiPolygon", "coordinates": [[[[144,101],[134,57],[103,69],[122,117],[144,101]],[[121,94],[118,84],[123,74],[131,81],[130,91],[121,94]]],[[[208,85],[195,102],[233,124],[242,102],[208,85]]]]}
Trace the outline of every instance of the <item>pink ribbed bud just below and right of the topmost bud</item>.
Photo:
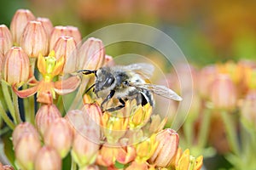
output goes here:
{"type": "Polygon", "coordinates": [[[39,21],[29,21],[23,31],[21,47],[29,57],[37,58],[39,54],[48,54],[48,36],[39,21]]]}

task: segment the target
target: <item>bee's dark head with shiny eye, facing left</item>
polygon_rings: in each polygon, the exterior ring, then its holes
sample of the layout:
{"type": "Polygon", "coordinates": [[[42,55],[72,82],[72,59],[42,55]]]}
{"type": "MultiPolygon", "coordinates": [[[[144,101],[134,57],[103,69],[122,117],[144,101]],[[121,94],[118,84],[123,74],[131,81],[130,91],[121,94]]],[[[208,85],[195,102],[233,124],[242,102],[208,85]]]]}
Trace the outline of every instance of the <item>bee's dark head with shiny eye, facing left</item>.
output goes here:
{"type": "Polygon", "coordinates": [[[110,88],[114,83],[114,77],[108,67],[102,67],[96,72],[95,93],[110,88]]]}

